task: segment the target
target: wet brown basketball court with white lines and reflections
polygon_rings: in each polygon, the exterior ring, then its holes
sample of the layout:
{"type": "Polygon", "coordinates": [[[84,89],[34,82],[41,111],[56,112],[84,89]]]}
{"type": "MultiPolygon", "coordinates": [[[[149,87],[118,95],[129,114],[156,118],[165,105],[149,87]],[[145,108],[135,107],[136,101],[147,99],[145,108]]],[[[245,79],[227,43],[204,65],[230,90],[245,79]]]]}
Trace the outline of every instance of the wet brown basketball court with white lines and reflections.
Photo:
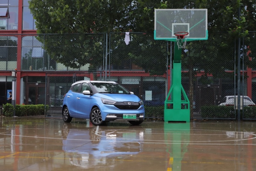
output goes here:
{"type": "Polygon", "coordinates": [[[140,126],[88,120],[1,118],[3,171],[30,170],[255,170],[256,126],[250,121],[165,123],[140,126]]]}

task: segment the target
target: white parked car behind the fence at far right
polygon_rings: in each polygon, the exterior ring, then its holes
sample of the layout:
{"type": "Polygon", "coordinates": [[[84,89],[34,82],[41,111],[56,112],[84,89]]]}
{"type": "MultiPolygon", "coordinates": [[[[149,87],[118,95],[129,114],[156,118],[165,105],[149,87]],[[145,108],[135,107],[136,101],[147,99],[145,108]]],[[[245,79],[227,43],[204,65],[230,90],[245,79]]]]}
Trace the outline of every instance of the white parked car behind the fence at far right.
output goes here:
{"type": "MultiPolygon", "coordinates": [[[[218,104],[219,106],[234,106],[236,102],[236,109],[237,109],[238,108],[237,99],[238,99],[237,96],[225,96],[221,101],[219,101],[218,104]]],[[[255,106],[255,103],[248,96],[240,96],[240,109],[242,109],[243,106],[255,106]]]]}

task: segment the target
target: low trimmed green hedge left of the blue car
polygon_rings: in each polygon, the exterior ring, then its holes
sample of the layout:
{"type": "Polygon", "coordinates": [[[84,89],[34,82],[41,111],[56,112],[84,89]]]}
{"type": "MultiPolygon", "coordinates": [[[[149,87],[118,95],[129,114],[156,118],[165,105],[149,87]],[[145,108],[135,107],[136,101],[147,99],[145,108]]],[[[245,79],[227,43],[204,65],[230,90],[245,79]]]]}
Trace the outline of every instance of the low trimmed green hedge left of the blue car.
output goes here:
{"type": "MultiPolygon", "coordinates": [[[[46,111],[49,110],[49,105],[46,105],[46,111]]],[[[3,116],[12,117],[14,111],[14,106],[11,104],[3,105],[3,116]]],[[[15,105],[15,116],[24,117],[24,116],[38,116],[44,115],[44,104],[37,105],[15,105]]]]}

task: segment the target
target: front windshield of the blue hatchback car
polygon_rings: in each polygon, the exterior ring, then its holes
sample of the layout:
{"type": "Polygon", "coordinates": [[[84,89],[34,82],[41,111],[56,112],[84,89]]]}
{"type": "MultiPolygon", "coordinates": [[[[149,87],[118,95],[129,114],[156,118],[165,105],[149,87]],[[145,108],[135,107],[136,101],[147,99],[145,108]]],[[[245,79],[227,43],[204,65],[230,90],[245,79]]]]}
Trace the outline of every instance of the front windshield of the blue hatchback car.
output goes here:
{"type": "Polygon", "coordinates": [[[115,83],[92,82],[92,85],[99,93],[130,94],[123,86],[115,83]]]}

